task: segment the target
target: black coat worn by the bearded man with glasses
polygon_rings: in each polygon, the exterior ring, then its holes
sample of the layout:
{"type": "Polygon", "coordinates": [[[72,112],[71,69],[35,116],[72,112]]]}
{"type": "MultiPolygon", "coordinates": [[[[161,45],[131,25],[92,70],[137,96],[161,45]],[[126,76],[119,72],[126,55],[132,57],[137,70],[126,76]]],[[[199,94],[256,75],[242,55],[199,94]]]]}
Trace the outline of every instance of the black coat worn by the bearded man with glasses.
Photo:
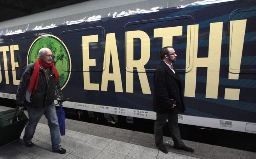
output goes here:
{"type": "Polygon", "coordinates": [[[185,109],[180,77],[161,61],[154,73],[153,110],[156,113],[183,113],[185,109]],[[176,106],[172,108],[176,101],[176,106]]]}

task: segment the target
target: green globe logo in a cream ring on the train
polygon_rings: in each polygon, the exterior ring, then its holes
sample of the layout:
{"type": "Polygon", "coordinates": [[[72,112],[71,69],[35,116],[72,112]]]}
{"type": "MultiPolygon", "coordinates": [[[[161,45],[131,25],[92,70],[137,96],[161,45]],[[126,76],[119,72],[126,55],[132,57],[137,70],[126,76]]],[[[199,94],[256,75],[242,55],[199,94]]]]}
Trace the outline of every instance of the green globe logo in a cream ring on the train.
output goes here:
{"type": "Polygon", "coordinates": [[[27,65],[36,62],[41,48],[49,48],[52,51],[54,66],[58,70],[60,86],[63,89],[69,80],[71,70],[71,60],[67,47],[56,36],[50,34],[39,36],[28,50],[27,65]]]}

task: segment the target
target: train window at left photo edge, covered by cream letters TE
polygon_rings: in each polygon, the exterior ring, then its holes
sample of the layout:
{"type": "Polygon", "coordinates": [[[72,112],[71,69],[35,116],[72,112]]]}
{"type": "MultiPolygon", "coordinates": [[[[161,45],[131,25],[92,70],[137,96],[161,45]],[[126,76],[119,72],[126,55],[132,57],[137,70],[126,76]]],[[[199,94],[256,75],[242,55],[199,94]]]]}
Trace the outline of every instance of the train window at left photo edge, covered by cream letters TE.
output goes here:
{"type": "Polygon", "coordinates": [[[17,65],[14,59],[14,50],[17,50],[15,48],[12,39],[0,38],[0,70],[6,71],[5,75],[8,75],[10,70],[14,71],[15,65],[17,65]]]}

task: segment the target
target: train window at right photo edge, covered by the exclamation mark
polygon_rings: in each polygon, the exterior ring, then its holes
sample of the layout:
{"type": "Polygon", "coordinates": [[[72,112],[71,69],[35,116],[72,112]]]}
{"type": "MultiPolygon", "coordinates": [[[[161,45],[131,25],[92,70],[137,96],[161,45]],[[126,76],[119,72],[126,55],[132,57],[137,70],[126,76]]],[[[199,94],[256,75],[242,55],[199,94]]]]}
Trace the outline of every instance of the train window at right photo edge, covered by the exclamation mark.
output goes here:
{"type": "Polygon", "coordinates": [[[256,10],[235,10],[229,22],[226,67],[233,74],[256,73],[256,10]]]}

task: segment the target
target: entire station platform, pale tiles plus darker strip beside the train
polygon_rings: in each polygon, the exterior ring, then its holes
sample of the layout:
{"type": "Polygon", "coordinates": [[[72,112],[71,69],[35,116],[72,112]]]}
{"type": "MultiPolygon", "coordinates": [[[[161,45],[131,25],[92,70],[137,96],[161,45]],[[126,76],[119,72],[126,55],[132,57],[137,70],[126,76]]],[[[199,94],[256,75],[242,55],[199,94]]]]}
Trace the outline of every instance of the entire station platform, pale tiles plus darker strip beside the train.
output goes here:
{"type": "MultiPolygon", "coordinates": [[[[0,112],[10,109],[0,106],[0,112]]],[[[26,113],[26,111],[24,111],[26,113]]],[[[26,147],[21,138],[0,147],[0,159],[255,159],[256,152],[220,147],[183,140],[195,149],[194,153],[176,150],[170,137],[164,137],[168,154],[159,151],[154,135],[121,128],[66,119],[66,135],[61,136],[61,146],[66,154],[51,150],[51,137],[47,120],[43,116],[32,142],[26,147]]],[[[235,139],[234,139],[235,140],[235,139]]]]}

